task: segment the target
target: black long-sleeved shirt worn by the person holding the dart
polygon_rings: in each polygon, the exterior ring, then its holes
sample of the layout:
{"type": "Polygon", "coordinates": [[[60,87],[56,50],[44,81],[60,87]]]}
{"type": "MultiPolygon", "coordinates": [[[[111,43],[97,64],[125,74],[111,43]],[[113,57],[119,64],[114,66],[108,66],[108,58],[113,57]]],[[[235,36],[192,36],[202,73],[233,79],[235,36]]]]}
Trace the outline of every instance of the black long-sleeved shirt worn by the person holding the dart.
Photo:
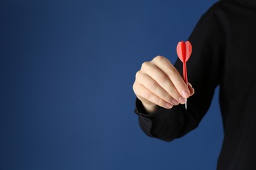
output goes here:
{"type": "MultiPolygon", "coordinates": [[[[256,169],[256,1],[218,1],[189,37],[192,56],[188,81],[196,93],[184,105],[145,114],[135,112],[144,133],[172,141],[195,129],[211,105],[216,86],[223,117],[224,141],[217,169],[256,169]]],[[[182,63],[175,67],[182,73],[182,63]]]]}

